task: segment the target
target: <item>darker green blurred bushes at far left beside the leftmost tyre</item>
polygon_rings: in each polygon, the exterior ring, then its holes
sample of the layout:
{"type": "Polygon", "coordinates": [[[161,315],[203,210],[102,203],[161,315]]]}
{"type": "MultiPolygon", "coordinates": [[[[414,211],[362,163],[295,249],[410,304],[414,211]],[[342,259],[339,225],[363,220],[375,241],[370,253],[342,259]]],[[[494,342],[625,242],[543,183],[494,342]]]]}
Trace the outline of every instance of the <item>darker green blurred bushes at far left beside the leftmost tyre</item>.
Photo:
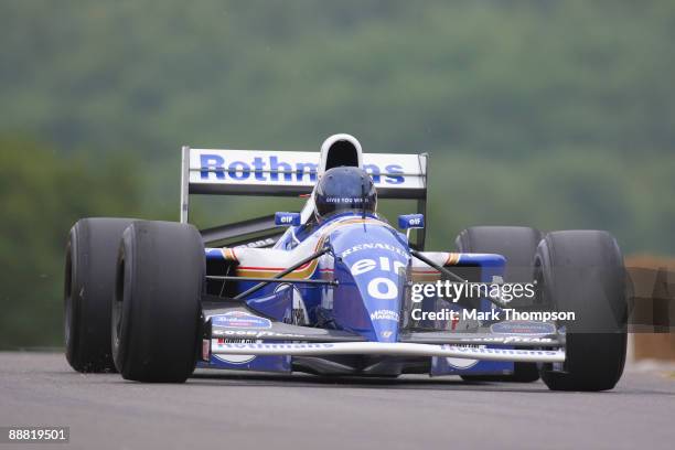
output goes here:
{"type": "Polygon", "coordinates": [[[61,342],[63,260],[79,217],[137,215],[128,158],[60,158],[44,143],[0,139],[0,347],[61,342]],[[105,168],[101,170],[101,168],[105,168]]]}

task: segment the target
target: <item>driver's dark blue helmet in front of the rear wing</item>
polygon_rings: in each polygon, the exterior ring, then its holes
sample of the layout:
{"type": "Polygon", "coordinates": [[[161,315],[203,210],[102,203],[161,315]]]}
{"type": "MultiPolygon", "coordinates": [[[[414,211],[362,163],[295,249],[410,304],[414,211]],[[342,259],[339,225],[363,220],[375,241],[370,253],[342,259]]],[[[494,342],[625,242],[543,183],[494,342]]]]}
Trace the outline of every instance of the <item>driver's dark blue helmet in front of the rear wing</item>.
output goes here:
{"type": "Polygon", "coordinates": [[[377,191],[371,175],[354,167],[333,168],[323,173],[314,190],[317,219],[346,211],[375,213],[377,191]]]}

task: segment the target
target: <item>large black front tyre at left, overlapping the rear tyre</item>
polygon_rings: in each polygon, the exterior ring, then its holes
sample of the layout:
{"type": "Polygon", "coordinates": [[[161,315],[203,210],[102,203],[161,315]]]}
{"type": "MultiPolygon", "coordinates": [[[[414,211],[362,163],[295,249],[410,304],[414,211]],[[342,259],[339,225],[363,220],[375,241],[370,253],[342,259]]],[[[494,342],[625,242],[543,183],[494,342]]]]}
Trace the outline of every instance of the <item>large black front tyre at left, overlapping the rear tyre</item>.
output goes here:
{"type": "Polygon", "coordinates": [[[122,377],[183,383],[192,374],[204,276],[204,246],[194,226],[136,222],[125,231],[111,332],[122,377]]]}

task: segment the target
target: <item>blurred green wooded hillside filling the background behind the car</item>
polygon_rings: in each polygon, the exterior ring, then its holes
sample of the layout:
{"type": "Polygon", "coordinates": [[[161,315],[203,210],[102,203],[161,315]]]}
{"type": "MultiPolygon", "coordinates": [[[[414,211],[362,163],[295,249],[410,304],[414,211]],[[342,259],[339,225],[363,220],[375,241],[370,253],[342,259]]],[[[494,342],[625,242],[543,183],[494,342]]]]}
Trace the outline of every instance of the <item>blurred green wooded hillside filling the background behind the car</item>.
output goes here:
{"type": "MultiPolygon", "coordinates": [[[[3,0],[1,345],[60,342],[78,217],[178,217],[183,143],[351,132],[430,153],[432,248],[529,224],[673,254],[672,42],[671,0],[3,0]]],[[[299,202],[196,205],[207,225],[299,202]]]]}

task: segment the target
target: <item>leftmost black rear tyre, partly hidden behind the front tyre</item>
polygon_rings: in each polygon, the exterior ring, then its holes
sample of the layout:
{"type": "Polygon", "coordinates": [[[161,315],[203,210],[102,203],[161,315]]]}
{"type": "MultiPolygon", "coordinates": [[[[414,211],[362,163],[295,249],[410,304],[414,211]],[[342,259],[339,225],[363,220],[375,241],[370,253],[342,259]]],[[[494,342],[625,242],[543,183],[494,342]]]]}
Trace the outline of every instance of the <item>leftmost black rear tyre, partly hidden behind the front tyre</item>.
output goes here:
{"type": "Polygon", "coordinates": [[[64,334],[66,360],[75,371],[115,371],[110,304],[119,240],[131,222],[131,218],[83,218],[68,234],[64,334]]]}

